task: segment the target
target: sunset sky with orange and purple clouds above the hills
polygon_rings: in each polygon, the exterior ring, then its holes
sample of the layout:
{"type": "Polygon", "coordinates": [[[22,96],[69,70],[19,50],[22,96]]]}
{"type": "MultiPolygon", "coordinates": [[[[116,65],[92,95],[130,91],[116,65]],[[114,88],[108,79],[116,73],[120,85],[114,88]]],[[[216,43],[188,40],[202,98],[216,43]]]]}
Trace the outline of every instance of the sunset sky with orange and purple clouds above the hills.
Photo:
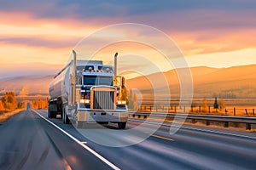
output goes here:
{"type": "MultiPolygon", "coordinates": [[[[47,69],[54,74],[84,37],[121,23],[163,31],[191,67],[256,64],[255,0],[0,0],[0,4],[0,77],[45,75],[47,69]]],[[[147,31],[144,36],[152,37],[147,31]]],[[[126,47],[119,46],[119,51],[126,47]]],[[[142,51],[127,49],[132,54],[142,51]]],[[[150,50],[144,54],[149,56],[150,50]]],[[[155,56],[153,62],[158,59],[155,56]]]]}

